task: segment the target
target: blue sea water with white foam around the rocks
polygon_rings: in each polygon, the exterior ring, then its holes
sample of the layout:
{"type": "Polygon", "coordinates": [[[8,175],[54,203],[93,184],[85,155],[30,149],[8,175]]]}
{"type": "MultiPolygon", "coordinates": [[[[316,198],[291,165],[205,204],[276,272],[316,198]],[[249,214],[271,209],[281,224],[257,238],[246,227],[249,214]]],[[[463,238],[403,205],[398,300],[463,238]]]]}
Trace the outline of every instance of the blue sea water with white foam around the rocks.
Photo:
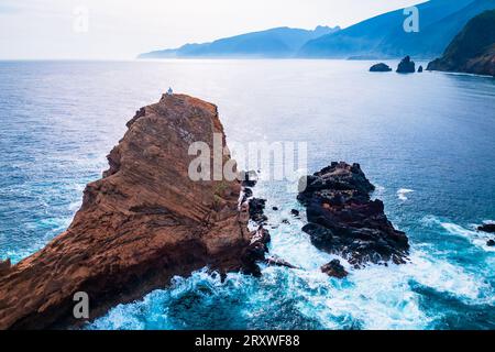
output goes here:
{"type": "Polygon", "coordinates": [[[271,251],[301,270],[223,283],[198,271],[87,329],[495,329],[495,250],[475,231],[495,220],[495,80],[371,64],[0,62],[0,258],[19,262],[70,223],[125,122],[172,86],[218,105],[229,141],[306,141],[311,170],[361,163],[410,263],[327,277],[333,256],[289,216],[296,195],[263,182],[279,224],[271,251]]]}

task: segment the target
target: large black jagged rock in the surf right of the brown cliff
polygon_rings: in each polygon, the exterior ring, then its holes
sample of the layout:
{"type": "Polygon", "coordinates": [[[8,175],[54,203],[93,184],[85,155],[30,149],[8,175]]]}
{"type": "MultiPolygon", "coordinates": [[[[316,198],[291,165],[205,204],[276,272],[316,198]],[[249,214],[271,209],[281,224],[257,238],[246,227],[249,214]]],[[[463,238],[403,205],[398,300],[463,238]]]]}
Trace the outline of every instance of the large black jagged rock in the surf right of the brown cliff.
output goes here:
{"type": "Polygon", "coordinates": [[[318,249],[345,257],[355,268],[367,262],[406,262],[409,244],[394,229],[381,200],[371,200],[374,186],[359,164],[332,163],[307,178],[298,195],[306,206],[308,224],[302,228],[318,249]]]}

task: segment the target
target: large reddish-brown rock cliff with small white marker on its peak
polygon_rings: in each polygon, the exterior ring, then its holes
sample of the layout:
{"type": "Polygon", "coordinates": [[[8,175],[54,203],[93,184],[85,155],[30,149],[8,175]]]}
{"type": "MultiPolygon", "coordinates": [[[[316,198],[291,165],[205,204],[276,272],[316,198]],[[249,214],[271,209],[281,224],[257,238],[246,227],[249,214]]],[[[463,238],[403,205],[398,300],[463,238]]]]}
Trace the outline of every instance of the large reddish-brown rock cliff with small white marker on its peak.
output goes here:
{"type": "Polygon", "coordinates": [[[86,187],[67,231],[15,266],[2,266],[0,329],[78,323],[77,292],[89,295],[95,318],[164,287],[174,275],[206,265],[222,272],[241,267],[250,234],[249,209],[238,210],[240,184],[188,177],[191,142],[212,146],[213,133],[221,133],[224,143],[217,108],[164,96],[128,128],[108,156],[109,170],[86,187]]]}

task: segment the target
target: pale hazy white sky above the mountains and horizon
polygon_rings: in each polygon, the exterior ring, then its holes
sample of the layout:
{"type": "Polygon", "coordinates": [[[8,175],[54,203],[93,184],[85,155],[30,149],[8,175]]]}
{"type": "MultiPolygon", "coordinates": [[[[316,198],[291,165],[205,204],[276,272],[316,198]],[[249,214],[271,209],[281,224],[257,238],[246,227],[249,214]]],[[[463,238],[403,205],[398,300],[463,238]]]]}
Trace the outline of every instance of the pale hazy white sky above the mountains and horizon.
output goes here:
{"type": "Polygon", "coordinates": [[[275,26],[348,26],[425,1],[0,0],[0,59],[133,58],[275,26]]]}

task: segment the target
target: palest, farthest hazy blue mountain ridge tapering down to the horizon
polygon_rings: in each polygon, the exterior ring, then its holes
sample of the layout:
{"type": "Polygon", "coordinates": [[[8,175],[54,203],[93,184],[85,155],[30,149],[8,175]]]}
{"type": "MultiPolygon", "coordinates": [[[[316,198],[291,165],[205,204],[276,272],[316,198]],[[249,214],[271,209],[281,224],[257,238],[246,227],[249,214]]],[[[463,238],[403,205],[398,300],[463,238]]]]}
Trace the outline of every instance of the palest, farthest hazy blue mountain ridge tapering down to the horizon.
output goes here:
{"type": "Polygon", "coordinates": [[[290,57],[308,41],[338,32],[337,28],[317,26],[314,31],[277,28],[241,34],[211,43],[186,44],[178,48],[141,54],[139,58],[170,57],[290,57]]]}

